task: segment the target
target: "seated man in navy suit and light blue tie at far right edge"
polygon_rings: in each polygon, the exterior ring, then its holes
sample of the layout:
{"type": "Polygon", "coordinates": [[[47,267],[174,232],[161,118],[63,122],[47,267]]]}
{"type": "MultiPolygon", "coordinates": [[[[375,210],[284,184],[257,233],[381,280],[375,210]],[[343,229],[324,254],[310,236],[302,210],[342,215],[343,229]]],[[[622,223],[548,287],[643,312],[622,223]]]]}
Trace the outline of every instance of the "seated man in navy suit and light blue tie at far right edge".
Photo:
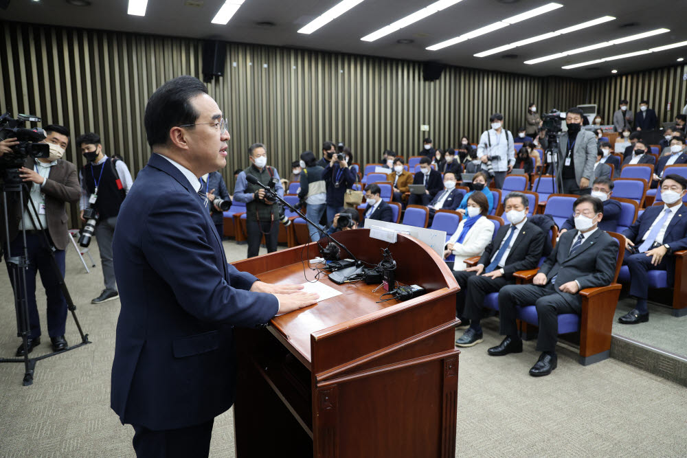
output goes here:
{"type": "Polygon", "coordinates": [[[649,321],[646,297],[650,270],[665,269],[668,284],[673,285],[675,260],[671,253],[687,249],[687,211],[682,204],[686,189],[687,180],[682,176],[664,176],[660,191],[665,205],[648,207],[635,224],[622,231],[628,248],[622,263],[630,271],[630,295],[637,298],[635,308],[618,318],[622,324],[649,321]]]}

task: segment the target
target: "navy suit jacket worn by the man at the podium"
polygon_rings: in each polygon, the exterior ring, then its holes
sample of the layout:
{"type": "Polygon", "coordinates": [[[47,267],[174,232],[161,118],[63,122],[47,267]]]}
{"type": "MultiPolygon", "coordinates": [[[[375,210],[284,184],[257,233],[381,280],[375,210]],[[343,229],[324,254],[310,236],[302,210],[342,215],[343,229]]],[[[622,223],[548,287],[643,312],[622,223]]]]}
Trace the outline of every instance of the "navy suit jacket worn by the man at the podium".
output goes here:
{"type": "Polygon", "coordinates": [[[153,154],[127,197],[113,240],[111,407],[153,430],[206,422],[234,402],[232,327],[266,323],[278,300],[249,293],[256,277],[227,264],[203,198],[167,159],[153,154]]]}

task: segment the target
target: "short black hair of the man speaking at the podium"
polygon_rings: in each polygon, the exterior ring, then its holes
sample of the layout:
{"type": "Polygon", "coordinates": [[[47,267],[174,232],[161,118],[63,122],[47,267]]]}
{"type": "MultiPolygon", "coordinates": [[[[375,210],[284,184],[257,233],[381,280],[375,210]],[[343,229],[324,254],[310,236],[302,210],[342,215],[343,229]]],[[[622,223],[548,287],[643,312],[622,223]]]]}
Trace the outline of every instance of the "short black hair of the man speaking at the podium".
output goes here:
{"type": "Polygon", "coordinates": [[[157,88],[148,99],[144,115],[148,144],[151,147],[166,145],[172,127],[195,124],[200,113],[191,99],[201,94],[207,94],[205,84],[188,75],[178,76],[157,88]]]}

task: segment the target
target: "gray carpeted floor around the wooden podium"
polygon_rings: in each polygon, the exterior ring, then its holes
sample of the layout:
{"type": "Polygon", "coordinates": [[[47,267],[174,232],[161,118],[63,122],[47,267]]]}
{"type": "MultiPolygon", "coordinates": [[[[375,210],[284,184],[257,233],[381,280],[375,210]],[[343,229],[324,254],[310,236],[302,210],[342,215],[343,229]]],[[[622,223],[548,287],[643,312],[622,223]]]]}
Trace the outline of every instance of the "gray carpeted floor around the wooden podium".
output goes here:
{"type": "MultiPolygon", "coordinates": [[[[225,242],[229,260],[246,246],[225,242]]],[[[93,257],[98,260],[97,246],[93,257]]],[[[264,251],[264,250],[263,250],[264,251]]],[[[0,365],[1,457],[130,457],[131,426],[109,409],[109,377],[119,301],[99,306],[102,274],[85,273],[73,247],[67,251],[67,285],[91,345],[39,361],[34,385],[22,387],[23,365],[0,365]]],[[[16,337],[12,290],[0,275],[0,356],[13,356],[16,337]]],[[[45,295],[38,287],[45,323],[45,295]],[[43,296],[43,297],[41,297],[43,296]]],[[[522,354],[493,358],[497,321],[484,322],[484,343],[460,356],[457,450],[460,456],[684,456],[686,391],[616,360],[583,367],[574,351],[561,348],[559,367],[535,379],[534,343],[522,354]]],[[[45,329],[44,329],[45,332],[45,329]]],[[[461,334],[457,332],[457,335],[461,334]]],[[[78,341],[71,318],[67,339],[78,341]]],[[[48,350],[45,340],[35,354],[48,350]]],[[[212,457],[234,456],[232,412],[216,419],[212,457]]]]}

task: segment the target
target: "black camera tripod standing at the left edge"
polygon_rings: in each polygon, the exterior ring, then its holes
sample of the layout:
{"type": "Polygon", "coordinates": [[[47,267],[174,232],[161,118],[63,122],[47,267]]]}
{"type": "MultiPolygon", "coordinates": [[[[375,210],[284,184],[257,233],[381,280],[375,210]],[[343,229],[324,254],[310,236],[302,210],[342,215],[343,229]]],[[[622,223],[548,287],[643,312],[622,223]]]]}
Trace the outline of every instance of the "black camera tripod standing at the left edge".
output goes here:
{"type": "Polygon", "coordinates": [[[50,243],[50,240],[47,237],[47,234],[45,233],[45,228],[43,228],[41,221],[38,220],[38,218],[36,218],[37,221],[34,220],[34,215],[37,216],[38,212],[36,211],[36,207],[31,199],[31,195],[29,194],[27,203],[31,205],[33,214],[31,211],[28,211],[27,213],[29,214],[34,224],[34,227],[37,227],[43,234],[45,249],[50,252],[52,268],[54,268],[56,276],[58,277],[60,282],[60,289],[62,290],[65,300],[67,301],[67,310],[71,312],[71,316],[74,318],[74,322],[76,323],[76,328],[78,328],[79,334],[81,335],[80,343],[77,343],[76,345],[71,345],[71,347],[67,347],[65,350],[60,350],[59,352],[52,352],[49,354],[45,354],[43,356],[38,356],[36,358],[29,357],[28,339],[31,333],[31,326],[29,321],[29,310],[27,301],[26,273],[29,270],[30,264],[28,262],[28,249],[26,245],[26,229],[24,225],[21,225],[21,233],[17,235],[17,237],[21,237],[21,253],[11,253],[9,225],[10,220],[8,218],[8,201],[12,201],[12,199],[19,199],[18,202],[21,206],[21,214],[24,214],[24,211],[26,210],[25,205],[23,204],[25,185],[21,181],[21,178],[19,178],[19,170],[17,169],[7,169],[5,170],[4,175],[5,183],[2,186],[1,193],[3,203],[3,224],[5,229],[4,242],[5,249],[7,250],[7,253],[5,253],[5,261],[8,263],[8,270],[10,271],[10,276],[12,277],[12,285],[14,286],[13,290],[14,311],[16,313],[16,330],[17,336],[21,337],[22,339],[24,356],[23,358],[0,358],[0,363],[24,363],[25,372],[22,385],[28,386],[32,385],[34,382],[34,370],[36,368],[37,361],[49,358],[50,356],[54,356],[59,353],[68,352],[69,350],[74,350],[75,348],[81,347],[82,345],[86,345],[87,343],[91,342],[88,340],[88,334],[84,334],[83,330],[81,329],[79,320],[76,317],[76,306],[74,305],[74,301],[71,300],[71,295],[69,295],[69,290],[67,290],[67,285],[65,284],[65,278],[63,277],[62,272],[60,271],[60,268],[57,264],[57,261],[55,260],[55,247],[53,247],[50,243]],[[9,199],[8,194],[10,194],[9,199]]]}

